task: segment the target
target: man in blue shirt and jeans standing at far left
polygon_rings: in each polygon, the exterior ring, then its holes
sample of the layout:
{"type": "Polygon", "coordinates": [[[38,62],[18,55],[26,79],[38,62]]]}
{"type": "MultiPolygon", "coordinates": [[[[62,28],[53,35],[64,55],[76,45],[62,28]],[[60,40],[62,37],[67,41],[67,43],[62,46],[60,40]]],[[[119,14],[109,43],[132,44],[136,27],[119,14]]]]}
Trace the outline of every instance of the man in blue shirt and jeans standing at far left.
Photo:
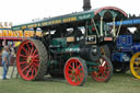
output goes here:
{"type": "Polygon", "coordinates": [[[7,73],[9,70],[9,62],[10,62],[9,47],[4,46],[3,51],[2,51],[3,80],[7,79],[7,73]]]}

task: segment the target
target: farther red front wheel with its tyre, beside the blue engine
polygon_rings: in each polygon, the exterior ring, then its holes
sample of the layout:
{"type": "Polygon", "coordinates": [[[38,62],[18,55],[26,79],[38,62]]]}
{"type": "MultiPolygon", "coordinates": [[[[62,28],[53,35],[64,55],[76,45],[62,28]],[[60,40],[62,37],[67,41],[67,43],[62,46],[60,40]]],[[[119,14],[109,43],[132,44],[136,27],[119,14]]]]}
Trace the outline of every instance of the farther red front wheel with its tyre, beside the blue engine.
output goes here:
{"type": "Polygon", "coordinates": [[[92,78],[95,81],[107,82],[113,75],[113,65],[110,60],[105,56],[102,56],[97,62],[100,65],[93,68],[98,70],[92,72],[92,78]]]}

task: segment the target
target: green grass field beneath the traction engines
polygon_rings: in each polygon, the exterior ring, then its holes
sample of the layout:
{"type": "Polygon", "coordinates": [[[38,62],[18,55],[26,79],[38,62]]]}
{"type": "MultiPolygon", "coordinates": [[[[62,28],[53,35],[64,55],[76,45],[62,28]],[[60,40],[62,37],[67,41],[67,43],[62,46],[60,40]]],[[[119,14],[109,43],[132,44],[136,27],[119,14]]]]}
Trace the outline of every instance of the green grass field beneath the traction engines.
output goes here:
{"type": "MultiPolygon", "coordinates": [[[[0,68],[1,69],[1,68],[0,68]]],[[[1,71],[0,71],[1,72],[1,71]]],[[[10,72],[9,72],[10,73],[10,72]]],[[[71,86],[65,80],[24,81],[22,79],[0,80],[0,93],[139,93],[140,80],[130,71],[114,74],[106,83],[95,82],[89,77],[84,86],[71,86]]]]}

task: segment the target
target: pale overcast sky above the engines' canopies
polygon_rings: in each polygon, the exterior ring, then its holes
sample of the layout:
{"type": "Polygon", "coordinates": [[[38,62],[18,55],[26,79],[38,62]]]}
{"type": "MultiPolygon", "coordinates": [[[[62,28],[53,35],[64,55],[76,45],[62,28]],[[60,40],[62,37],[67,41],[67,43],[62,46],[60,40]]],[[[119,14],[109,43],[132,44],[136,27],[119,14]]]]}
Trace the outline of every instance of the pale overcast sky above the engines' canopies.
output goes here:
{"type": "MultiPolygon", "coordinates": [[[[140,0],[91,0],[92,9],[117,7],[127,13],[140,14],[140,0]]],[[[32,20],[82,11],[83,0],[0,0],[0,22],[13,25],[32,20]]]]}

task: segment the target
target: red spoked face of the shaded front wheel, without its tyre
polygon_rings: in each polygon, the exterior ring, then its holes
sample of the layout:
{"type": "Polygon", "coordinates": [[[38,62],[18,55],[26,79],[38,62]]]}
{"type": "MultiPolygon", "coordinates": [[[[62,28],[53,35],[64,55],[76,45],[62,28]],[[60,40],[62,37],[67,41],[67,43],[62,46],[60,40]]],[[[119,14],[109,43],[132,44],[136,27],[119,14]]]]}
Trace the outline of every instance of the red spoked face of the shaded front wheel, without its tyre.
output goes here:
{"type": "Polygon", "coordinates": [[[98,62],[98,67],[95,67],[98,70],[92,72],[92,78],[96,81],[105,82],[109,78],[108,62],[103,57],[100,58],[98,62]]]}

